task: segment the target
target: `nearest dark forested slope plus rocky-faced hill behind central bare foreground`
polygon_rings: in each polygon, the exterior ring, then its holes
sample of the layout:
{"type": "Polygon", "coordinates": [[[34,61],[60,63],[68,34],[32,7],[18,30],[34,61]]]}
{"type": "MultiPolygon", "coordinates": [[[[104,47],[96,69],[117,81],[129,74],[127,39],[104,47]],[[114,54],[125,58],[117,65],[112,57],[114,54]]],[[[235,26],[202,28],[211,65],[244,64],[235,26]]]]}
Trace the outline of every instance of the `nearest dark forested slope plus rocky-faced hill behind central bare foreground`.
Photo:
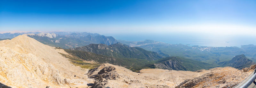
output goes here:
{"type": "Polygon", "coordinates": [[[189,70],[195,71],[199,69],[209,69],[217,67],[216,65],[204,63],[201,61],[185,59],[181,57],[168,57],[158,60],[143,60],[143,59],[133,59],[133,58],[115,58],[100,54],[95,54],[92,52],[85,51],[76,51],[76,50],[67,50],[66,52],[72,54],[73,56],[79,57],[82,60],[93,60],[96,62],[102,63],[110,63],[118,66],[123,66],[125,68],[131,69],[132,71],[138,72],[143,68],[163,68],[159,67],[159,64],[164,64],[165,67],[163,69],[174,69],[174,70],[189,70]],[[171,63],[171,64],[170,64],[171,63]]]}

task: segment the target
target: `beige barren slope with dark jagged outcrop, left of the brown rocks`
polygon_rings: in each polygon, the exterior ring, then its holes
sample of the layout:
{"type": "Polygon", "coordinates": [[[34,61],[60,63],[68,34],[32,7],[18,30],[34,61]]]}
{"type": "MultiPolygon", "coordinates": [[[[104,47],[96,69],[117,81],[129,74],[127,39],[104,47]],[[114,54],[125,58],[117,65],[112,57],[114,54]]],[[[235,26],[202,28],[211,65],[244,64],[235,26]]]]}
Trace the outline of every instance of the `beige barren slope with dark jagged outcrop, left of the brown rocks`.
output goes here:
{"type": "Polygon", "coordinates": [[[180,84],[186,79],[198,77],[207,72],[207,70],[202,72],[192,72],[164,69],[142,69],[140,70],[140,73],[136,73],[124,67],[103,64],[98,68],[91,69],[88,75],[89,77],[96,79],[93,86],[94,88],[174,88],[177,84],[180,84]]]}

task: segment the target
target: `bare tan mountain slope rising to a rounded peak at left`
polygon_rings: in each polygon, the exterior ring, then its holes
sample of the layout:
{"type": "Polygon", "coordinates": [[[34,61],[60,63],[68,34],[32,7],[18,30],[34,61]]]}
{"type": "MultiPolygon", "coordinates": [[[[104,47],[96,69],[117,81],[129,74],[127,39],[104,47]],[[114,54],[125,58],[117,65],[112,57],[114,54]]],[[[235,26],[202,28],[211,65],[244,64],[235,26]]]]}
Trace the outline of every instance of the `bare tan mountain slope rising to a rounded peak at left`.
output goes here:
{"type": "Polygon", "coordinates": [[[0,41],[0,83],[11,87],[86,87],[92,82],[86,70],[73,66],[58,51],[25,35],[0,41]]]}

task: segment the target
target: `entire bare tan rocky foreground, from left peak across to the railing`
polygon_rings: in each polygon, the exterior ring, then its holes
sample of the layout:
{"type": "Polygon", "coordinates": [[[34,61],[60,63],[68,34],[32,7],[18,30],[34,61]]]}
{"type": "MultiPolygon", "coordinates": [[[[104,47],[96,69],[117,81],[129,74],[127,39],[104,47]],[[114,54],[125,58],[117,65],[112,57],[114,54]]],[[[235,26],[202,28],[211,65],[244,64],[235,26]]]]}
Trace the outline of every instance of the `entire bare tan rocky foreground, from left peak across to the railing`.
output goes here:
{"type": "Polygon", "coordinates": [[[231,67],[195,72],[142,69],[136,73],[112,64],[89,70],[74,66],[59,52],[68,54],[25,35],[0,41],[0,84],[12,88],[215,88],[251,70],[231,67]]]}

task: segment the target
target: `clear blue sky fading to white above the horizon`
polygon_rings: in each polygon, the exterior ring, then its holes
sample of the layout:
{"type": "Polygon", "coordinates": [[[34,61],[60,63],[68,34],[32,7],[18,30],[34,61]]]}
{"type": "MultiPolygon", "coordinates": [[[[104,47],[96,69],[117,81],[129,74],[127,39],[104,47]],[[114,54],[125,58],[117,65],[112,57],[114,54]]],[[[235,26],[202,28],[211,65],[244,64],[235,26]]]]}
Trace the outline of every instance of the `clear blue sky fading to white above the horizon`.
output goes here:
{"type": "Polygon", "coordinates": [[[256,0],[1,0],[13,30],[254,35],[256,0]]]}

